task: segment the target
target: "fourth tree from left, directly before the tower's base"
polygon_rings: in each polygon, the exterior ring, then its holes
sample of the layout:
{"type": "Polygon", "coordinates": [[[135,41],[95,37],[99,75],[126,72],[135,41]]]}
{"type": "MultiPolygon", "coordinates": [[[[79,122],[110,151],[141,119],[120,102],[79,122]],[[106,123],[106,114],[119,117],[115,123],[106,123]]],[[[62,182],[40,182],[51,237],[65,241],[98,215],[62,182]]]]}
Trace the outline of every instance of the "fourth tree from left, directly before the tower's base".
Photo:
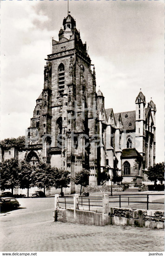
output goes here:
{"type": "Polygon", "coordinates": [[[63,195],[63,187],[69,187],[71,181],[70,172],[60,168],[56,170],[54,175],[54,187],[61,189],[61,195],[63,195]]]}

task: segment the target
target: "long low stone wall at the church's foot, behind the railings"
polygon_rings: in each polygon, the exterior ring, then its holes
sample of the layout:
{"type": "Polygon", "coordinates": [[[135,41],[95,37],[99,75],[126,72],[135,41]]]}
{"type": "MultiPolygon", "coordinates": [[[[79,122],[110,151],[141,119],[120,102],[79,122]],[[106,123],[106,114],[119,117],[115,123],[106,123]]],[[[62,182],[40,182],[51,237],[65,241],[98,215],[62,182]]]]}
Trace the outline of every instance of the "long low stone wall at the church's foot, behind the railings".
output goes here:
{"type": "MultiPolygon", "coordinates": [[[[84,188],[85,192],[111,192],[111,186],[86,186],[84,188]]],[[[113,192],[121,192],[124,191],[124,186],[112,186],[113,192]]]]}

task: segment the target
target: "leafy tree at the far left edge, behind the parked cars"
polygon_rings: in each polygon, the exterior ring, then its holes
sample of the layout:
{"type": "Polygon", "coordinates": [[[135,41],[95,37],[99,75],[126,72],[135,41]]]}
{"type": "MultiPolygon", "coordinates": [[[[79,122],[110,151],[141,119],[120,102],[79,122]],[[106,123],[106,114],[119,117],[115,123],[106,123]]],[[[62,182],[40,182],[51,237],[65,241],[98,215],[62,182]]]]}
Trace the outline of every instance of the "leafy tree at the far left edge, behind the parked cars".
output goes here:
{"type": "Polygon", "coordinates": [[[18,172],[19,172],[18,159],[11,158],[2,162],[0,166],[0,174],[1,174],[0,188],[2,190],[11,189],[11,193],[13,194],[14,188],[18,187],[19,185],[18,172]]]}

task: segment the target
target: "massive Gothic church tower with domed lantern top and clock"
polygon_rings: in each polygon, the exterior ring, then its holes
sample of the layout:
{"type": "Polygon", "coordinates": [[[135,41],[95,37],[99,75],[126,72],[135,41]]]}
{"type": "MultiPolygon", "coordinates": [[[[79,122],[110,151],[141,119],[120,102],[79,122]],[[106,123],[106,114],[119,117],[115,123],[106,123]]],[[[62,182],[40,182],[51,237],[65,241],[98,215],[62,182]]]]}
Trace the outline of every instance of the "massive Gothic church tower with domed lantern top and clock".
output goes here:
{"type": "Polygon", "coordinates": [[[96,185],[95,71],[70,12],[63,20],[59,41],[52,40],[52,54],[46,61],[44,88],[28,128],[28,148],[33,148],[38,161],[64,168],[72,177],[82,168],[89,169],[89,183],[96,185]]]}

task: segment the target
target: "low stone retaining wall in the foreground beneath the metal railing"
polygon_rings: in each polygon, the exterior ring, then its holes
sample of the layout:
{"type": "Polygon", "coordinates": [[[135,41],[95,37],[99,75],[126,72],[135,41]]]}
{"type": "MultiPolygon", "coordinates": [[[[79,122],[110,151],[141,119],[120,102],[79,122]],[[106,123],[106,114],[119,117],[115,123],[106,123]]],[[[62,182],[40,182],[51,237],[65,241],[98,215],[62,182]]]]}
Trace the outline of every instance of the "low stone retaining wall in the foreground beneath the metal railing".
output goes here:
{"type": "Polygon", "coordinates": [[[111,208],[109,214],[74,209],[57,209],[55,220],[84,225],[123,225],[164,228],[164,211],[111,208]]]}

